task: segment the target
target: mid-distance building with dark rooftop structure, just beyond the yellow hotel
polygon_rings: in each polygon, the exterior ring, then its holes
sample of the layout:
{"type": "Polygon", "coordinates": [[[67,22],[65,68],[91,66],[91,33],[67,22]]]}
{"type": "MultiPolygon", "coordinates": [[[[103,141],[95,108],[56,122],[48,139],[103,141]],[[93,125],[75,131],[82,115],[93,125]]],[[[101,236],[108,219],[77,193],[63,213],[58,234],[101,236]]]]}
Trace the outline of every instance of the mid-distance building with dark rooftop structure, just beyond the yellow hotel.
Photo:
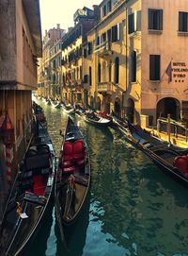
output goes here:
{"type": "Polygon", "coordinates": [[[62,99],[71,104],[86,104],[83,82],[84,50],[86,33],[96,25],[98,7],[78,9],[74,13],[74,26],[62,41],[62,99]]]}

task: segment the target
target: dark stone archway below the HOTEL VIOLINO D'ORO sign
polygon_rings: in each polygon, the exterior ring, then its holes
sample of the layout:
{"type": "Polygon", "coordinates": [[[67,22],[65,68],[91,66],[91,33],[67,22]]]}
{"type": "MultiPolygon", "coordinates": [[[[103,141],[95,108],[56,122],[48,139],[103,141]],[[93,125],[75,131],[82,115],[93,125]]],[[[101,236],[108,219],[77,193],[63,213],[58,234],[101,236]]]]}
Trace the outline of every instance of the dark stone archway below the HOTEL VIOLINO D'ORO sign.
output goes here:
{"type": "Polygon", "coordinates": [[[170,114],[172,119],[180,120],[180,101],[173,97],[165,97],[158,101],[156,111],[157,118],[166,118],[167,114],[170,114]]]}

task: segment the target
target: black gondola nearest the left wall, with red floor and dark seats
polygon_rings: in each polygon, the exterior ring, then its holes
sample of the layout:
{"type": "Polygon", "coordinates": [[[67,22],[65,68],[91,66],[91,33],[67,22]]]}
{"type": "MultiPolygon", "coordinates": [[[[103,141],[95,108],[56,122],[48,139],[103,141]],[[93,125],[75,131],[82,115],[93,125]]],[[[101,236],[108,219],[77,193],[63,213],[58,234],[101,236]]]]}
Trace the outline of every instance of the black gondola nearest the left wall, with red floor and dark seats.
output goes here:
{"type": "Polygon", "coordinates": [[[55,179],[53,146],[32,145],[14,181],[2,224],[0,255],[21,255],[31,244],[48,214],[52,213],[55,179]]]}

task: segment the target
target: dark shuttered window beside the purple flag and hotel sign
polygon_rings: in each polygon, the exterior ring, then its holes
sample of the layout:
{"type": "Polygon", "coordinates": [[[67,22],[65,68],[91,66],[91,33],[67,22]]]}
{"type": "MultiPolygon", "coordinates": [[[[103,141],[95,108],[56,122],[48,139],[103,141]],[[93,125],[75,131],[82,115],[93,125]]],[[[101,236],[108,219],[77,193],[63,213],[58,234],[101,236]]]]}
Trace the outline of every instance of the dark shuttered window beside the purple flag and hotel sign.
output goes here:
{"type": "Polygon", "coordinates": [[[149,56],[149,79],[160,80],[160,55],[149,56]]]}

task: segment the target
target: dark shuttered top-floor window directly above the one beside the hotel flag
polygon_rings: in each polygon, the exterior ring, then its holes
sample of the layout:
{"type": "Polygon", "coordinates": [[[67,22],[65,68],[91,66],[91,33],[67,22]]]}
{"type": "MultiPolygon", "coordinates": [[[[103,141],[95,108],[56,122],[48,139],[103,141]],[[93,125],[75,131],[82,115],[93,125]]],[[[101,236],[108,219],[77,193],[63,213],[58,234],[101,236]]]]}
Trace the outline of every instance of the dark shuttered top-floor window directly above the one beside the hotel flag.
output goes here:
{"type": "Polygon", "coordinates": [[[149,29],[163,30],[163,9],[149,9],[149,29]]]}

